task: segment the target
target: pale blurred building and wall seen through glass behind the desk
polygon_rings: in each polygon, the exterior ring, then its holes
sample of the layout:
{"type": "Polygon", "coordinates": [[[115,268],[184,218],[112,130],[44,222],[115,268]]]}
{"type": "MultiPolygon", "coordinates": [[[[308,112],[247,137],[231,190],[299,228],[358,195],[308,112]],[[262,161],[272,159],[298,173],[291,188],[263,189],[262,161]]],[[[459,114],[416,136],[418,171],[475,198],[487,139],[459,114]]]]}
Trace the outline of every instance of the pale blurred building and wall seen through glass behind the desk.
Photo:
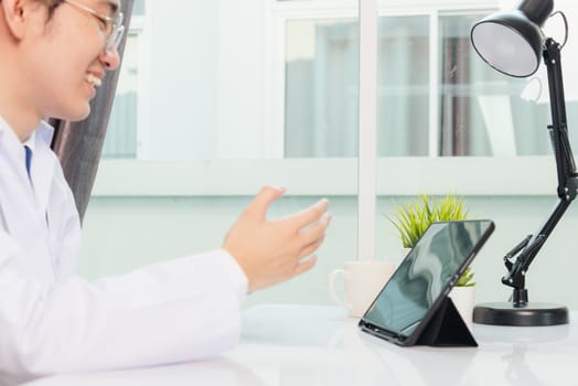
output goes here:
{"type": "MultiPolygon", "coordinates": [[[[531,79],[507,77],[470,43],[475,21],[515,4],[381,1],[376,140],[360,143],[358,1],[135,0],[84,221],[81,272],[121,275],[216,248],[259,187],[278,184],[288,193],[271,218],[327,196],[332,225],[314,270],[245,304],[330,303],[329,272],[345,260],[400,260],[387,219],[396,202],[456,193],[470,217],[496,224],[473,264],[477,300],[506,300],[503,256],[557,202],[545,66],[531,79]],[[373,215],[357,200],[364,187],[358,149],[367,146],[375,146],[373,215]],[[374,256],[357,256],[360,214],[375,219],[375,235],[361,240],[374,256]]],[[[561,58],[574,148],[576,9],[570,0],[555,1],[570,22],[561,58]]],[[[564,40],[561,18],[545,30],[564,40]]],[[[570,207],[532,265],[532,300],[578,309],[578,297],[559,289],[578,268],[577,211],[570,207]]]]}

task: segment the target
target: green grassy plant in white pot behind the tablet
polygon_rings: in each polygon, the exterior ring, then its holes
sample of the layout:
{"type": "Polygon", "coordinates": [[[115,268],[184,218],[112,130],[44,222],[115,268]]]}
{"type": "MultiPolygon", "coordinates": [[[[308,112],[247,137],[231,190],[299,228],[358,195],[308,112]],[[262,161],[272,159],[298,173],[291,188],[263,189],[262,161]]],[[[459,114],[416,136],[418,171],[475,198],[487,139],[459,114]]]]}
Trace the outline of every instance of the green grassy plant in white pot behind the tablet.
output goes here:
{"type": "MultiPolygon", "coordinates": [[[[396,204],[395,212],[388,216],[402,239],[404,256],[416,245],[431,223],[467,218],[468,210],[464,207],[463,199],[456,194],[448,194],[438,200],[421,194],[407,203],[396,204]]],[[[469,325],[472,322],[474,302],[473,276],[471,267],[468,267],[449,293],[462,319],[469,325]]]]}

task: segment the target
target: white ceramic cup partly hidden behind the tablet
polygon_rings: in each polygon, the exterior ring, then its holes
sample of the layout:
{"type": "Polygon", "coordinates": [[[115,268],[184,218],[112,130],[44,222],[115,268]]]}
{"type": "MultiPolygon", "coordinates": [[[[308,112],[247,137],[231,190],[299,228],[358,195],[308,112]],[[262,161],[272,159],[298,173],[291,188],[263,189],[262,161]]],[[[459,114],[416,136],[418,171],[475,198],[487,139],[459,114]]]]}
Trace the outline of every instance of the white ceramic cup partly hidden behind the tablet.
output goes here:
{"type": "Polygon", "coordinates": [[[350,317],[360,318],[370,308],[377,293],[395,270],[395,265],[385,260],[346,261],[343,269],[329,276],[329,293],[335,304],[345,307],[350,317]],[[344,299],[338,294],[336,281],[344,279],[344,299]]]}

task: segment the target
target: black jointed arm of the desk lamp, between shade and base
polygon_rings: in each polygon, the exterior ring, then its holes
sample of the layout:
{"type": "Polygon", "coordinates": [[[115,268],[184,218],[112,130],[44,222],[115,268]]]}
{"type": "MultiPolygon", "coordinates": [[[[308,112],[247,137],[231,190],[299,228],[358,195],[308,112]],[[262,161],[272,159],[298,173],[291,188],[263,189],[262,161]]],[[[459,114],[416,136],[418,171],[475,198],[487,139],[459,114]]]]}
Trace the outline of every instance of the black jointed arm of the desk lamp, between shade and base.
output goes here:
{"type": "MultiPolygon", "coordinates": [[[[548,69],[553,121],[553,124],[548,126],[548,130],[556,158],[559,202],[538,232],[526,237],[504,257],[504,264],[509,272],[502,278],[502,282],[518,291],[525,291],[525,276],[529,265],[568,206],[570,206],[570,203],[576,199],[578,192],[578,173],[576,172],[576,163],[568,139],[559,44],[548,37],[545,42],[543,54],[544,63],[548,69]]],[[[516,294],[516,291],[514,291],[514,294],[516,294]]]]}

